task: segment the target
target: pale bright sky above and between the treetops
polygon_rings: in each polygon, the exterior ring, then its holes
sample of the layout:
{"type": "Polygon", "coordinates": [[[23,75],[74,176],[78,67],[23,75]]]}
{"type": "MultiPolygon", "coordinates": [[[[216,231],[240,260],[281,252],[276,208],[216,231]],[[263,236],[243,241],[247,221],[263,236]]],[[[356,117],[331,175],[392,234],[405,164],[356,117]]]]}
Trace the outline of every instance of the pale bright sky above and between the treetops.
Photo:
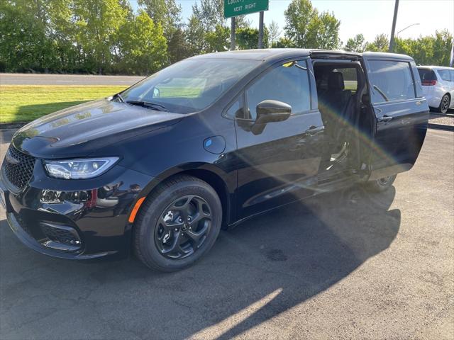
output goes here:
{"type": "MultiPolygon", "coordinates": [[[[137,8],[137,0],[130,0],[137,8]]],[[[260,1],[260,0],[259,0],[260,1]]],[[[192,5],[198,0],[177,0],[182,6],[184,21],[191,16],[192,5]]],[[[279,28],[285,26],[284,11],[291,0],[270,0],[269,10],[265,12],[265,25],[276,21],[279,28]]],[[[339,35],[342,42],[358,33],[365,40],[372,41],[375,35],[391,34],[394,0],[312,0],[312,5],[320,12],[333,12],[341,20],[339,35]]],[[[253,27],[258,27],[258,13],[249,14],[253,27]]],[[[448,29],[454,33],[454,0],[400,0],[397,14],[396,32],[411,26],[402,33],[401,38],[418,38],[419,35],[433,35],[436,30],[448,29]]],[[[283,33],[282,33],[283,35],[283,33]]]]}

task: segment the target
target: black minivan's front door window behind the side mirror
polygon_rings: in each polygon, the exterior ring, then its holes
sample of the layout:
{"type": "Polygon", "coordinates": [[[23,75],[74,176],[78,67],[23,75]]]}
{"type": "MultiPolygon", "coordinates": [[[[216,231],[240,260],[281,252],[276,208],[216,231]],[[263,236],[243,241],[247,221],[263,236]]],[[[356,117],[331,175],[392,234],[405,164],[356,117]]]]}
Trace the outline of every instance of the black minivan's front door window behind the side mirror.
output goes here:
{"type": "Polygon", "coordinates": [[[246,90],[246,118],[257,118],[258,103],[272,99],[292,106],[292,115],[311,108],[306,61],[287,62],[266,72],[246,90]]]}

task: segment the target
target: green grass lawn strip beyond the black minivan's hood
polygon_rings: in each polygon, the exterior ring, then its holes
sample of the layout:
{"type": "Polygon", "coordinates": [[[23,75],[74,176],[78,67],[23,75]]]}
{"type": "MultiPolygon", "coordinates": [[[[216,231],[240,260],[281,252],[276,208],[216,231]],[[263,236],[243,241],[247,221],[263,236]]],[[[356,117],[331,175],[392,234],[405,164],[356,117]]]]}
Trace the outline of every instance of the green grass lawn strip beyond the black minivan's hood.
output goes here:
{"type": "Polygon", "coordinates": [[[125,86],[0,85],[0,123],[29,122],[123,89],[125,86]]]}

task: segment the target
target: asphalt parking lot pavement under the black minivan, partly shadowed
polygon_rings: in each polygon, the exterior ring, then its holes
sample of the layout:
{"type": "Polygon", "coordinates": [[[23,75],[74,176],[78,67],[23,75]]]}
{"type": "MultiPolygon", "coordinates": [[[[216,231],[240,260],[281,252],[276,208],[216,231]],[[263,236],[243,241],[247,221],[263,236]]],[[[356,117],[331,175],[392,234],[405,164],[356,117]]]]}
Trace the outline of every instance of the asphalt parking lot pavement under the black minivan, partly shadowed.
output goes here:
{"type": "Polygon", "coordinates": [[[430,130],[387,193],[275,210],[172,274],[36,254],[0,212],[0,339],[454,339],[453,179],[430,130]]]}

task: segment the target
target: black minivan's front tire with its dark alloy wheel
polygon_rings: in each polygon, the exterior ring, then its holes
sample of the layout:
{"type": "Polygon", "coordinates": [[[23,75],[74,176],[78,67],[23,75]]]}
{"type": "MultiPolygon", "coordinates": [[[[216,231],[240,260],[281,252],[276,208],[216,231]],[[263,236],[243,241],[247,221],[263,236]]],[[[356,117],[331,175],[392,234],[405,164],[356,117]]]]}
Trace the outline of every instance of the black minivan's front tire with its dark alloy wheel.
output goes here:
{"type": "Polygon", "coordinates": [[[157,271],[179,271],[211,249],[221,223],[221,200],[214,188],[196,177],[174,177],[140,207],[133,227],[135,256],[157,271]]]}

